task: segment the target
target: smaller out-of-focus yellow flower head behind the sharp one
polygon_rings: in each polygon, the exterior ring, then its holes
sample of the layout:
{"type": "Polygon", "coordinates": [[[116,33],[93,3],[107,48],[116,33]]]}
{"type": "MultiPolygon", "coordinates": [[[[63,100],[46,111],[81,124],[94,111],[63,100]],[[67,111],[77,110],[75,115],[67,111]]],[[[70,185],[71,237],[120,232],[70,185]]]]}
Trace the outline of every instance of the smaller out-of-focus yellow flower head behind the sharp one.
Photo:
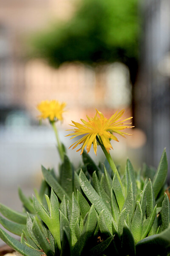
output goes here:
{"type": "Polygon", "coordinates": [[[64,112],[63,109],[65,108],[65,102],[58,102],[56,100],[45,100],[40,102],[37,105],[37,109],[41,112],[39,116],[42,119],[49,118],[51,122],[61,120],[62,121],[62,113],[64,112]]]}

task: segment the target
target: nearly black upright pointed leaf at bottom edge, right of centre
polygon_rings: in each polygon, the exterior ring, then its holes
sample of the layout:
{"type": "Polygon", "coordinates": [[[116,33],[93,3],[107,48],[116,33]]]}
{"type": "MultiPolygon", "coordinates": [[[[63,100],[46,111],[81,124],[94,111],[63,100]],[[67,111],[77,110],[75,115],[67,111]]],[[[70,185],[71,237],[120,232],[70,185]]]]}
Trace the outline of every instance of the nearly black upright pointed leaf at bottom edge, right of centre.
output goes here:
{"type": "Polygon", "coordinates": [[[123,233],[122,233],[122,256],[135,256],[135,241],[133,238],[133,234],[127,226],[126,222],[124,223],[123,233]]]}

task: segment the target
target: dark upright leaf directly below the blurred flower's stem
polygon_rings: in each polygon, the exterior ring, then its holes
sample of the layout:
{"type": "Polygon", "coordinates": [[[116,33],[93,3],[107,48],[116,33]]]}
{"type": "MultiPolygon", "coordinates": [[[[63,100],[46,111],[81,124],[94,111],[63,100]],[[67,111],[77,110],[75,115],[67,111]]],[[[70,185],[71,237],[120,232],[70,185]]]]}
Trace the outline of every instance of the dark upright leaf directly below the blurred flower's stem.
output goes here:
{"type": "Polygon", "coordinates": [[[67,195],[72,198],[73,193],[73,172],[68,156],[64,155],[64,161],[61,165],[60,185],[67,195]]]}

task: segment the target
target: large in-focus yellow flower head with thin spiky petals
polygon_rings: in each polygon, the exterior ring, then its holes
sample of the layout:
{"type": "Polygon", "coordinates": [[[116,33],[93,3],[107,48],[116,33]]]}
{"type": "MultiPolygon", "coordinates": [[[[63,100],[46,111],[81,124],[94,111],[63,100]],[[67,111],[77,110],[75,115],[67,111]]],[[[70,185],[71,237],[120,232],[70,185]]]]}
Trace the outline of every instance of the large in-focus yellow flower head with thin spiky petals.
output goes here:
{"type": "Polygon", "coordinates": [[[126,126],[126,124],[131,124],[131,123],[123,123],[126,120],[129,120],[132,118],[132,117],[129,117],[127,119],[122,120],[121,116],[123,115],[124,112],[125,110],[122,110],[120,112],[117,111],[109,119],[107,119],[106,117],[103,116],[101,112],[96,110],[96,115],[94,116],[94,118],[87,116],[87,119],[88,119],[87,122],[81,119],[83,124],[71,121],[74,124],[71,126],[75,128],[67,131],[74,131],[74,133],[68,134],[67,136],[73,136],[71,139],[79,135],[84,135],[84,136],[80,138],[77,142],[73,143],[70,146],[70,148],[74,145],[74,147],[72,148],[74,149],[79,144],[83,143],[82,147],[79,148],[77,151],[81,150],[81,154],[82,154],[86,146],[87,153],[88,153],[93,143],[94,152],[96,154],[96,151],[97,151],[96,136],[97,136],[100,143],[104,145],[105,149],[109,153],[109,150],[112,148],[110,140],[112,139],[112,140],[118,141],[117,138],[113,135],[113,133],[119,134],[122,137],[125,137],[125,135],[132,135],[132,134],[127,134],[125,132],[120,131],[126,128],[134,127],[134,126],[126,126]]]}

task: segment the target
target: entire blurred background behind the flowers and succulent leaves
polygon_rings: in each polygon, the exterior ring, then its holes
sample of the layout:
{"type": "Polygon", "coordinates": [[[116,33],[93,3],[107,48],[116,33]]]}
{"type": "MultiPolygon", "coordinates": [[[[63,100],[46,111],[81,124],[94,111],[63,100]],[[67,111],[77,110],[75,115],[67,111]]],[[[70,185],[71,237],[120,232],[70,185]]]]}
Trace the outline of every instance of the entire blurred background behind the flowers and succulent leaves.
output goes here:
{"type": "Polygon", "coordinates": [[[0,0],[0,202],[13,209],[17,186],[39,188],[41,164],[57,171],[55,136],[37,119],[45,99],[67,102],[66,148],[71,120],[125,108],[135,128],[112,143],[115,162],[157,167],[164,147],[169,160],[170,1],[0,0]]]}

